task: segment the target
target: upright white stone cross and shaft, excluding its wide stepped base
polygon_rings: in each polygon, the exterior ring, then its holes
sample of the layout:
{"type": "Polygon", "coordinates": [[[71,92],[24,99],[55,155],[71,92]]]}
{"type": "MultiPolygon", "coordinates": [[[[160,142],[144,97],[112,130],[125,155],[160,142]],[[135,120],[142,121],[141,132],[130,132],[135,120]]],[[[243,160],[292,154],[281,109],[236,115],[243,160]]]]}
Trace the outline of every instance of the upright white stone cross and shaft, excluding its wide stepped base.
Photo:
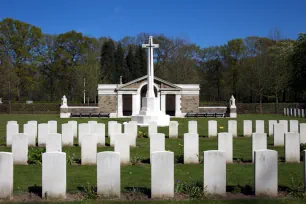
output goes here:
{"type": "Polygon", "coordinates": [[[154,94],[154,61],[153,61],[153,49],[159,48],[159,44],[153,44],[153,36],[149,36],[149,43],[142,44],[142,48],[148,48],[148,85],[147,85],[147,97],[153,98],[154,94]]]}

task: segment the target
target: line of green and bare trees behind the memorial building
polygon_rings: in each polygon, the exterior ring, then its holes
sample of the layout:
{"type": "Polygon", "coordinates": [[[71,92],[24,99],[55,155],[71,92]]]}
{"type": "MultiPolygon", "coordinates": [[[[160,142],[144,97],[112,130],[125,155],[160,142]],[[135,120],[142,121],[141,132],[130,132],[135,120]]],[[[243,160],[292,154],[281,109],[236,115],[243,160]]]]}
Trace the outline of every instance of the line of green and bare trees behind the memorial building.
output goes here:
{"type": "MultiPolygon", "coordinates": [[[[202,101],[286,102],[305,100],[306,34],[298,40],[269,37],[233,39],[208,48],[181,38],[154,35],[155,74],[172,83],[198,83],[202,101]]],[[[70,31],[43,34],[14,19],[0,21],[0,97],[13,101],[97,100],[97,84],[119,83],[147,73],[149,34],[91,38],[70,31]]]]}

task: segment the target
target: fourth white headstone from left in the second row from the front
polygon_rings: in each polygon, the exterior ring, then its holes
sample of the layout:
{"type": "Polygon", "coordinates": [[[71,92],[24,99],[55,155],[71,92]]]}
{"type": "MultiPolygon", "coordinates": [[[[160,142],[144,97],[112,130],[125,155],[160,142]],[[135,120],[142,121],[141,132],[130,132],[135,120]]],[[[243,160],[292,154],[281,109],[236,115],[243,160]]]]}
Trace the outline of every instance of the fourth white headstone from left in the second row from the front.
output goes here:
{"type": "Polygon", "coordinates": [[[128,135],[120,133],[113,135],[115,137],[115,152],[120,153],[120,163],[130,163],[130,139],[128,135]]]}

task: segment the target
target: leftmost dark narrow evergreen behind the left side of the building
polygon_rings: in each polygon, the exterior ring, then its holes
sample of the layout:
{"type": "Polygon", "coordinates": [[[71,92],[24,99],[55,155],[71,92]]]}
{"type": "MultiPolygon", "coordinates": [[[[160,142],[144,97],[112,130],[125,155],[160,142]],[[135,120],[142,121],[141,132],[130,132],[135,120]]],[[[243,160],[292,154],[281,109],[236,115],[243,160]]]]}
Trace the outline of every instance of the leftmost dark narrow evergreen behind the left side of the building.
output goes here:
{"type": "Polygon", "coordinates": [[[115,61],[115,44],[114,41],[108,39],[105,41],[101,48],[101,79],[103,83],[118,83],[119,79],[115,79],[113,74],[116,72],[116,61],[115,61]]]}

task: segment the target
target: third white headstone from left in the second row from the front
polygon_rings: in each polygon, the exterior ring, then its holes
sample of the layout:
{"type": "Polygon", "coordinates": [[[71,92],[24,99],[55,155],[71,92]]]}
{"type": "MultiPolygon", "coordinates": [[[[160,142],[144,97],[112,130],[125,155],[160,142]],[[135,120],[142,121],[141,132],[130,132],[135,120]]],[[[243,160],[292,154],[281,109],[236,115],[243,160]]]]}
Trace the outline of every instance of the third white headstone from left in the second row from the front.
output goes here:
{"type": "Polygon", "coordinates": [[[81,145],[82,165],[96,164],[97,162],[97,135],[94,133],[84,134],[81,145]]]}

